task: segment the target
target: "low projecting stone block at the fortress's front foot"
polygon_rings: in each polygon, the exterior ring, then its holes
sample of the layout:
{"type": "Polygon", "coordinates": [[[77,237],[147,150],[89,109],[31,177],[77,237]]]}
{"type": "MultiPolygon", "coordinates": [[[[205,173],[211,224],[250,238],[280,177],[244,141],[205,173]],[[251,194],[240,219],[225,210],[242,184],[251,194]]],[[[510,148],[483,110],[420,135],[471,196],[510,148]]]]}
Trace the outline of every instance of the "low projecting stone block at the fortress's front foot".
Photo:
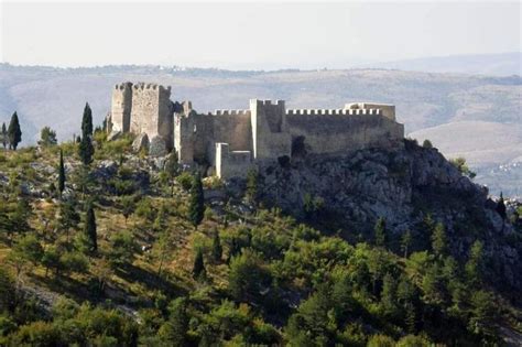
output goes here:
{"type": "Polygon", "coordinates": [[[216,174],[220,178],[244,177],[252,166],[250,151],[230,151],[228,143],[217,142],[215,152],[216,174]]]}

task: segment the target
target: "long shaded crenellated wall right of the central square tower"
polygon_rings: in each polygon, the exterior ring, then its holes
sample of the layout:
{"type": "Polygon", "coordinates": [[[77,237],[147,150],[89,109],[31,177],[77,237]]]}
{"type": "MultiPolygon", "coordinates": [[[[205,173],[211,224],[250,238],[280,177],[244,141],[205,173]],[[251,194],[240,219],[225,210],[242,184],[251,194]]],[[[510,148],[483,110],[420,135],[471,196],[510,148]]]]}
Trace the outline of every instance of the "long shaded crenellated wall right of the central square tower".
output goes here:
{"type": "Polygon", "coordinates": [[[287,115],[292,138],[304,137],[309,153],[338,153],[402,145],[404,127],[377,115],[287,115]]]}

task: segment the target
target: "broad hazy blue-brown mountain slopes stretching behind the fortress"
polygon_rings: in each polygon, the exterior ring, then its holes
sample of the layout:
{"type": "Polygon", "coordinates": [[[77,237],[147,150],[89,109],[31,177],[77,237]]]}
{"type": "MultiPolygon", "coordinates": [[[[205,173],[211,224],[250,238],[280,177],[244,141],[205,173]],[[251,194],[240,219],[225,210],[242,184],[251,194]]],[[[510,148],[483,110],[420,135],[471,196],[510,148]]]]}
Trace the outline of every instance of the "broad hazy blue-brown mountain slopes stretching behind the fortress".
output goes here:
{"type": "Polygon", "coordinates": [[[55,129],[59,140],[70,139],[79,132],[85,102],[100,123],[110,107],[112,86],[124,80],[170,85],[173,100],[189,99],[203,112],[247,108],[250,98],[284,99],[291,108],[340,108],[360,100],[391,102],[410,137],[432,140],[448,156],[466,156],[478,173],[476,181],[488,184],[492,193],[522,196],[522,165],[518,164],[522,162],[522,78],[508,75],[384,68],[231,72],[0,64],[0,121],[7,122],[18,111],[22,144],[35,143],[44,126],[55,129]]]}

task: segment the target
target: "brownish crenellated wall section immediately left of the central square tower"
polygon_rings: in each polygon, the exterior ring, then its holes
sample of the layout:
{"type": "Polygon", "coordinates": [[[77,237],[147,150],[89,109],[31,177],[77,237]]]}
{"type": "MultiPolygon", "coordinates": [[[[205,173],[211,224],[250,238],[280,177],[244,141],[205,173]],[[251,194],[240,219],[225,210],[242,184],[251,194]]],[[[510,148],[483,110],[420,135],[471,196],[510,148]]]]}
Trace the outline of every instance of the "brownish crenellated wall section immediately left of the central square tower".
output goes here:
{"type": "Polygon", "coordinates": [[[250,110],[224,110],[213,116],[214,140],[230,145],[230,151],[251,151],[250,110]]]}

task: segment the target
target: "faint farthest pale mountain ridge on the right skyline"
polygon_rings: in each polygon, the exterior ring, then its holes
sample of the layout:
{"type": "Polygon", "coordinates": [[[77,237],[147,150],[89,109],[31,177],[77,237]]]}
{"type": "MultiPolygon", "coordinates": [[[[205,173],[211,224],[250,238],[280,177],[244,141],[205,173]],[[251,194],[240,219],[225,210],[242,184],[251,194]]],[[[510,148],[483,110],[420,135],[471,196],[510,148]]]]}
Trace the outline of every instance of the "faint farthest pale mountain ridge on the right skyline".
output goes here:
{"type": "Polygon", "coordinates": [[[522,53],[469,54],[363,64],[360,67],[488,76],[522,75],[522,53]]]}

